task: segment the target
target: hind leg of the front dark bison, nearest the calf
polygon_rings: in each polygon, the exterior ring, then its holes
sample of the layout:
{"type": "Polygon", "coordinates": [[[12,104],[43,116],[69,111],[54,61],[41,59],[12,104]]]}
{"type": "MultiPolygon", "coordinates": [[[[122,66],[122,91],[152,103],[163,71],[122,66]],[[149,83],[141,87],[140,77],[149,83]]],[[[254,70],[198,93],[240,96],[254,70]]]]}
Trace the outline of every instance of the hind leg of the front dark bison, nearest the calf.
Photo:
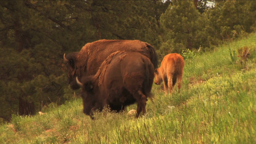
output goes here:
{"type": "Polygon", "coordinates": [[[138,102],[136,116],[138,118],[141,111],[143,115],[146,114],[146,96],[139,90],[138,95],[135,98],[138,102]]]}

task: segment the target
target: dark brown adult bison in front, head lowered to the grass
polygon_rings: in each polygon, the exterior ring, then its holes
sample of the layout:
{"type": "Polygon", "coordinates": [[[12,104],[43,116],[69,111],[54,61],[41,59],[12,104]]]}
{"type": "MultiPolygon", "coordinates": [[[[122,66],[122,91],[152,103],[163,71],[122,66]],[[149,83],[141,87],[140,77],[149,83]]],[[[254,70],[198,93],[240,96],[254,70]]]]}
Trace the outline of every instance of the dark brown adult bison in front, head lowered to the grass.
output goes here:
{"type": "Polygon", "coordinates": [[[92,117],[96,109],[109,105],[117,112],[138,103],[137,115],[146,113],[147,97],[151,97],[154,65],[138,52],[117,51],[104,60],[95,75],[83,77],[77,84],[82,88],[84,113],[92,117]]]}

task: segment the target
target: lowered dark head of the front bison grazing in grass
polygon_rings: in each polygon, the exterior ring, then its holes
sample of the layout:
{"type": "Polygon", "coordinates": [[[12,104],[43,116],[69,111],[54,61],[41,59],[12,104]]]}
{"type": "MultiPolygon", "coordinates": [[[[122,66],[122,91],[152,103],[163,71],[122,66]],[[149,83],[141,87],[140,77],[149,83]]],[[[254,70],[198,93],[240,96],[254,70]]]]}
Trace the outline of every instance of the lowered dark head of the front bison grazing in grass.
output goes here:
{"type": "Polygon", "coordinates": [[[97,80],[94,76],[86,76],[82,79],[82,83],[76,77],[77,85],[79,85],[81,90],[81,95],[83,98],[84,113],[91,116],[93,119],[93,111],[96,109],[102,110],[102,100],[99,98],[99,88],[97,80]]]}

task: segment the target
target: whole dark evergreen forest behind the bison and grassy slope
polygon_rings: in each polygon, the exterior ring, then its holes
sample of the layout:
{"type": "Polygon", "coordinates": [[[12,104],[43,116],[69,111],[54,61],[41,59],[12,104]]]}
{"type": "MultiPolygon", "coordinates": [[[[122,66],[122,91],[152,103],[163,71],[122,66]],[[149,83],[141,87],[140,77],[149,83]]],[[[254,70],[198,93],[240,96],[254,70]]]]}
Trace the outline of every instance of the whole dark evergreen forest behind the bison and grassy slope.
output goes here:
{"type": "Polygon", "coordinates": [[[139,39],[190,58],[256,31],[253,0],[0,1],[0,121],[33,115],[79,93],[63,54],[99,39],[139,39]]]}

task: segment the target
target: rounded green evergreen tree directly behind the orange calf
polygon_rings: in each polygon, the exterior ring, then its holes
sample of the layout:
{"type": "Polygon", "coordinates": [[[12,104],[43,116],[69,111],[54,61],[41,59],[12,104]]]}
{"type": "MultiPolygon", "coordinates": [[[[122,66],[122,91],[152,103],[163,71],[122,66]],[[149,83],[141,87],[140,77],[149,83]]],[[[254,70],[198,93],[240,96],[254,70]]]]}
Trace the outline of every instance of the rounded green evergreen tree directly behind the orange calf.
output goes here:
{"type": "Polygon", "coordinates": [[[181,53],[184,49],[199,48],[195,45],[195,36],[200,28],[200,13],[193,1],[175,0],[161,16],[160,23],[165,31],[160,53],[181,53]]]}

